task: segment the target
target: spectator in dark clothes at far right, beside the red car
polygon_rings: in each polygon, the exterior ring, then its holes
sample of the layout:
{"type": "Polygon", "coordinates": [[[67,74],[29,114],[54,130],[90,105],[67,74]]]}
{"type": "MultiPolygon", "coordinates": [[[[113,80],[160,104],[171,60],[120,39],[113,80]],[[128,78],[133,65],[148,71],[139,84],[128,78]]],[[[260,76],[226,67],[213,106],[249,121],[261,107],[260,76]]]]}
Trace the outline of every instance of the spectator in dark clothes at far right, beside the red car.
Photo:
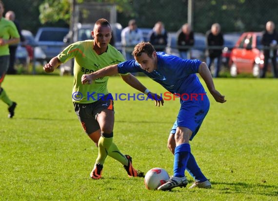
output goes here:
{"type": "Polygon", "coordinates": [[[269,59],[271,59],[271,61],[272,61],[273,77],[278,78],[277,62],[276,62],[277,41],[278,41],[278,34],[275,30],[275,24],[273,21],[268,21],[265,25],[265,31],[263,32],[263,35],[261,38],[261,44],[265,48],[263,50],[264,64],[263,64],[263,69],[260,74],[260,78],[265,78],[269,59]]]}

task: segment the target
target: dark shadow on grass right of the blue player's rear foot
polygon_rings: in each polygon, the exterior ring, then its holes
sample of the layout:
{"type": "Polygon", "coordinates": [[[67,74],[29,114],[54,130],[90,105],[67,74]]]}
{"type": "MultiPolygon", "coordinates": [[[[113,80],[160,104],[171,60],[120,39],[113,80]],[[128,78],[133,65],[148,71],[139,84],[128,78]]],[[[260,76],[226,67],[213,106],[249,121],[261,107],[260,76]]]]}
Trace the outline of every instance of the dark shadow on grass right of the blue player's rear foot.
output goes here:
{"type": "Polygon", "coordinates": [[[267,184],[249,184],[244,182],[211,182],[213,190],[218,190],[219,193],[226,194],[252,194],[252,195],[263,195],[263,196],[278,196],[278,185],[267,185],[267,184]],[[218,188],[217,185],[223,187],[218,188]]]}

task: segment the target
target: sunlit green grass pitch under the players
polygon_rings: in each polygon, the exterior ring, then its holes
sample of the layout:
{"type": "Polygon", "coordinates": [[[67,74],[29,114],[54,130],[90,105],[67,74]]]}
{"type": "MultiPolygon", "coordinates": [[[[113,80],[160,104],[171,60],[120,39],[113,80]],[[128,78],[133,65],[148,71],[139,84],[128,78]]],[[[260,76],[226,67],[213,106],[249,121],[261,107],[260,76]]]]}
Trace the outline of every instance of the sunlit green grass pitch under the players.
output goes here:
{"type": "MultiPolygon", "coordinates": [[[[139,80],[165,92],[148,78],[139,80]]],[[[6,76],[2,87],[18,107],[8,119],[0,103],[0,200],[278,200],[278,80],[215,80],[227,102],[209,96],[210,112],[191,142],[213,188],[171,192],[145,189],[143,178],[128,178],[110,158],[103,179],[90,179],[98,149],[74,113],[72,82],[70,76],[6,76]]],[[[137,93],[119,77],[110,78],[109,91],[137,93]]],[[[166,144],[179,101],[159,108],[152,101],[115,101],[115,110],[114,141],[134,166],[144,172],[161,167],[172,175],[166,144]]]]}

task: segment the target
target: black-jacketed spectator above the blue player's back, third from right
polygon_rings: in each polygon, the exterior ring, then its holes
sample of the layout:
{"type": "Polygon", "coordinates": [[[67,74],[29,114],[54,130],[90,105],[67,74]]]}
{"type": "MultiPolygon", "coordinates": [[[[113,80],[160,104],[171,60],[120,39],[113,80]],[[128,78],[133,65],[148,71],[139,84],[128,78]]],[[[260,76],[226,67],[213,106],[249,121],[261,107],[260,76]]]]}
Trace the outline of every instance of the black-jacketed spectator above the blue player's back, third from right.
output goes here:
{"type": "Polygon", "coordinates": [[[182,59],[190,59],[190,52],[188,46],[194,45],[194,32],[191,30],[191,25],[185,23],[182,25],[181,29],[177,33],[178,41],[178,49],[179,54],[182,59]]]}

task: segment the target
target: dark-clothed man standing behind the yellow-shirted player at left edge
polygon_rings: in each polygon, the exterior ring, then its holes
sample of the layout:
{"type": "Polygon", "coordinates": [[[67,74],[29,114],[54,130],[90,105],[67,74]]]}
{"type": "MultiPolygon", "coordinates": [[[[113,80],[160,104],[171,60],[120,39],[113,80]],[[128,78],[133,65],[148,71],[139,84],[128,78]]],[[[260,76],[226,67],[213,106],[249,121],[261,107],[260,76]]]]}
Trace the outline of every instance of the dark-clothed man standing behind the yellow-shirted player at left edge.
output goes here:
{"type": "MultiPolygon", "coordinates": [[[[21,34],[21,29],[20,29],[20,24],[19,22],[16,20],[16,14],[14,13],[14,11],[8,11],[5,15],[5,18],[7,20],[11,20],[15,23],[17,30],[20,34],[20,41],[24,42],[25,39],[21,34]]],[[[7,70],[7,74],[16,74],[17,71],[15,69],[15,60],[16,60],[16,52],[17,52],[17,48],[18,48],[18,44],[11,44],[9,45],[9,50],[10,50],[10,64],[9,64],[9,68],[7,70]]]]}

